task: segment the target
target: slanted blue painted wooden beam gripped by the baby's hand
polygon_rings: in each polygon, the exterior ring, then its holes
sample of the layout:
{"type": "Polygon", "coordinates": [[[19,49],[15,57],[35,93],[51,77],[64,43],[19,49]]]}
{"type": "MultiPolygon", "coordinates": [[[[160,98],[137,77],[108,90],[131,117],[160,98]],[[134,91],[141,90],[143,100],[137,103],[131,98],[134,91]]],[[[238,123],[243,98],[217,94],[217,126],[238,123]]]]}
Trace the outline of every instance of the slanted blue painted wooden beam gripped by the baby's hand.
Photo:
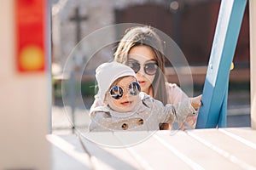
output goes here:
{"type": "Polygon", "coordinates": [[[222,0],[195,128],[226,127],[230,65],[247,0],[222,0]]]}

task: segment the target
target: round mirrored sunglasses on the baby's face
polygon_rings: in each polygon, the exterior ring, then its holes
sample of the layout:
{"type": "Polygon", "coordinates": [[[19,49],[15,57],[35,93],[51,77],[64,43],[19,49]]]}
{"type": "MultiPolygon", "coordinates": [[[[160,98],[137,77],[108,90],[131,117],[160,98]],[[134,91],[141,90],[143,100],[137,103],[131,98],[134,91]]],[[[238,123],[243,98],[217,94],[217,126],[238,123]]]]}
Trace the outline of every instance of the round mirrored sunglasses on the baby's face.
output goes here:
{"type": "MultiPolygon", "coordinates": [[[[128,85],[127,92],[131,95],[137,95],[141,91],[141,86],[137,82],[131,82],[128,85]]],[[[113,86],[110,89],[110,95],[113,99],[121,99],[124,95],[124,89],[119,86],[113,86]]]]}

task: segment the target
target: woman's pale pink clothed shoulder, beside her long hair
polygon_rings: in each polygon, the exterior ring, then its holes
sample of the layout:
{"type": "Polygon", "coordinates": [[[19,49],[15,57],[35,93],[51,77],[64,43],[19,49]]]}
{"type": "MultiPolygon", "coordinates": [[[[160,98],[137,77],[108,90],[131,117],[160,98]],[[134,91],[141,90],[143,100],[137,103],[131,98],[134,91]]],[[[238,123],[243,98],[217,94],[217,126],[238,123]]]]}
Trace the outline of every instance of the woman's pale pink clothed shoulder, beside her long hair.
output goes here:
{"type": "Polygon", "coordinates": [[[169,104],[174,104],[188,99],[188,95],[183,92],[176,83],[166,82],[166,94],[169,104]]]}

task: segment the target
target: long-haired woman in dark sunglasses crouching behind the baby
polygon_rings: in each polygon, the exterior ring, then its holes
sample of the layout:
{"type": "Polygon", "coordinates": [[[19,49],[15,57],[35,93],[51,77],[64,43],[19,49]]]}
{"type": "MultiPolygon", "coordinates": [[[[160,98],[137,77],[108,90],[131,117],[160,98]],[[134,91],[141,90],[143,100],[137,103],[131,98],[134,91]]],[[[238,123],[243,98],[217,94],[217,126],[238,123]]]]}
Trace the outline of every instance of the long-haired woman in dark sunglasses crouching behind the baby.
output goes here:
{"type": "MultiPolygon", "coordinates": [[[[136,73],[142,91],[165,104],[188,99],[176,84],[166,82],[165,56],[160,37],[149,26],[133,27],[126,31],[114,54],[114,60],[129,65],[136,73]]],[[[195,128],[196,117],[187,119],[189,128],[195,128]]],[[[183,128],[183,125],[180,124],[183,128]]],[[[160,129],[169,129],[166,123],[160,129]]]]}

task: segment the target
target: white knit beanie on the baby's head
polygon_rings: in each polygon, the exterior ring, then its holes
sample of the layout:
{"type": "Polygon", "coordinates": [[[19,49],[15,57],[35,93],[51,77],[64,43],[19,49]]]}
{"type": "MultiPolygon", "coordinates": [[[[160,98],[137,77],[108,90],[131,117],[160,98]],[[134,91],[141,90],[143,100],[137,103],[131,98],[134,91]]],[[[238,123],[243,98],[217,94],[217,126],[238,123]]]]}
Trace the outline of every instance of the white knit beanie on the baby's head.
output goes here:
{"type": "Polygon", "coordinates": [[[103,103],[105,94],[111,84],[119,77],[136,77],[135,72],[127,65],[118,62],[103,63],[96,68],[96,81],[98,82],[98,97],[103,103]]]}

